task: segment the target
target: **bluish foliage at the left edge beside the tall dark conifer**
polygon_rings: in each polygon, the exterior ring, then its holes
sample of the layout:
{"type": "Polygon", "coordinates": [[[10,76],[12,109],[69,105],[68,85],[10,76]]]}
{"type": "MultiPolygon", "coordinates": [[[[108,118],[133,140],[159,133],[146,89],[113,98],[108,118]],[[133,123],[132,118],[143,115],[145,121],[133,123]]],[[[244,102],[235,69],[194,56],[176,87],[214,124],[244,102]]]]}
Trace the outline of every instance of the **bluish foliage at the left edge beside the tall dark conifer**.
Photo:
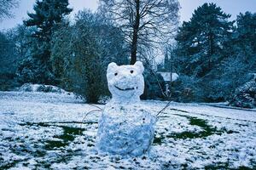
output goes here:
{"type": "MultiPolygon", "coordinates": [[[[26,26],[16,26],[9,31],[0,33],[0,74],[2,77],[0,88],[10,90],[19,86],[20,62],[31,54],[29,44],[32,42],[31,37],[27,37],[33,29],[26,26]]],[[[26,81],[30,81],[27,79],[26,81]]]]}

